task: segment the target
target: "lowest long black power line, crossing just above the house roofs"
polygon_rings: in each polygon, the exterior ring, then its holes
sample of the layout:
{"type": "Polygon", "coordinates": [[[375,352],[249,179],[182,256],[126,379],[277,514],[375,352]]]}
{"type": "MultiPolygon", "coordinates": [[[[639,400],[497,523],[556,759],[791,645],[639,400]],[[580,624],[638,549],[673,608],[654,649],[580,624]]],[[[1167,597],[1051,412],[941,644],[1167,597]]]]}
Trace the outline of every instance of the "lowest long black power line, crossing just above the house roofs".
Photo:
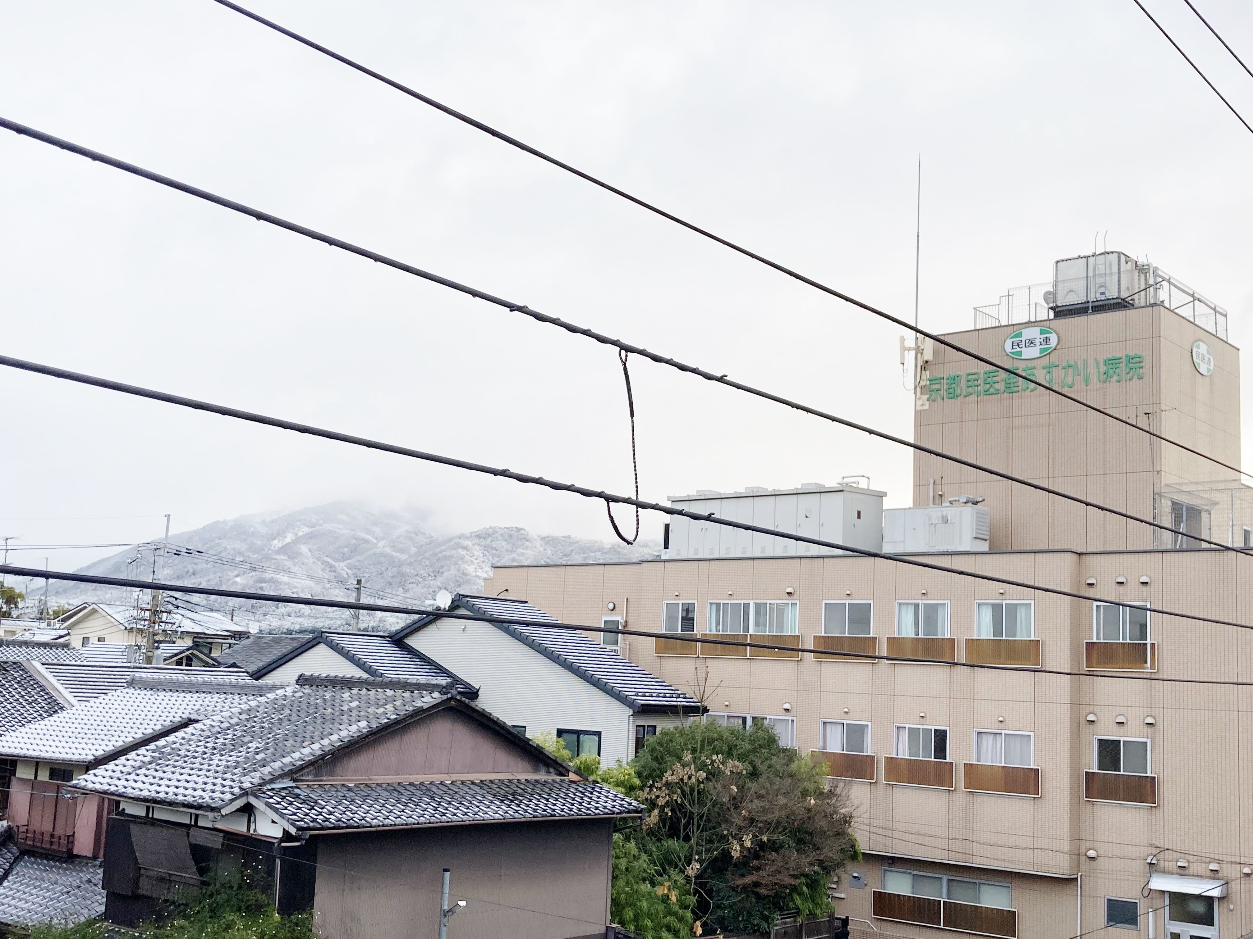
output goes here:
{"type": "MultiPolygon", "coordinates": [[[[23,576],[29,573],[34,568],[29,567],[16,567],[13,565],[0,565],[0,573],[11,573],[15,576],[23,576]]],[[[613,632],[618,636],[639,636],[640,639],[667,639],[678,640],[680,642],[698,642],[712,646],[734,646],[738,649],[759,649],[764,651],[779,651],[779,652],[796,652],[797,655],[808,652],[809,655],[822,655],[832,659],[850,659],[850,660],[873,660],[881,662],[897,662],[901,665],[952,665],[964,669],[974,669],[979,671],[1011,671],[1011,672],[1026,672],[1031,675],[1060,675],[1065,677],[1075,679],[1114,679],[1120,681],[1150,681],[1150,682],[1164,682],[1164,684],[1179,684],[1179,685],[1227,685],[1235,687],[1253,687],[1253,681],[1235,681],[1230,679],[1174,679],[1163,677],[1158,675],[1134,675],[1134,674],[1099,674],[1099,672],[1083,672],[1083,671],[1064,671],[1061,669],[1036,669],[1025,665],[985,665],[982,662],[957,662],[949,661],[946,659],[913,659],[906,656],[896,655],[878,655],[876,652],[829,652],[824,649],[814,649],[813,646],[783,646],[774,642],[756,642],[749,640],[737,640],[737,639],[709,639],[708,634],[698,636],[693,632],[649,632],[645,630],[629,630],[629,629],[616,629],[606,626],[584,626],[581,623],[571,622],[548,622],[544,620],[529,620],[519,621],[515,618],[509,618],[506,616],[491,616],[484,613],[470,613],[470,612],[457,612],[451,613],[447,610],[429,610],[422,607],[407,607],[407,606],[385,606],[381,603],[361,603],[352,600],[326,600],[322,597],[292,597],[284,596],[282,593],[256,593],[252,591],[243,590],[226,590],[223,587],[193,587],[185,583],[155,583],[153,581],[137,581],[127,577],[107,577],[103,575],[94,573],[75,573],[69,571],[39,571],[41,577],[54,581],[71,581],[75,583],[104,583],[114,587],[139,587],[142,590],[159,590],[163,593],[193,593],[200,596],[212,597],[234,597],[238,600],[253,600],[266,603],[291,603],[296,606],[316,606],[316,607],[331,607],[336,610],[361,610],[365,612],[380,612],[380,613],[400,613],[403,616],[437,616],[444,618],[460,618],[470,620],[472,622],[490,622],[500,623],[502,626],[535,626],[543,629],[553,630],[569,630],[576,632],[613,632]]],[[[1140,607],[1143,608],[1143,607],[1140,607]]],[[[1237,623],[1232,623],[1237,625],[1237,623]]],[[[1240,626],[1240,629],[1253,629],[1250,626],[1240,626]]],[[[718,634],[718,635],[736,635],[736,634],[718,634]]]]}

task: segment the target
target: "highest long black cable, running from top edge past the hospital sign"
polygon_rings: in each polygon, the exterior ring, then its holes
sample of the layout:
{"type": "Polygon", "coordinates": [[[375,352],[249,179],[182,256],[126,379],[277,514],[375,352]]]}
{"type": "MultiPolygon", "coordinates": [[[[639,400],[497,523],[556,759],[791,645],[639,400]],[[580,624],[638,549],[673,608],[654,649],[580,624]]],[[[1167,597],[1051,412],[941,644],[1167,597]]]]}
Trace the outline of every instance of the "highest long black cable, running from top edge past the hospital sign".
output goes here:
{"type": "MultiPolygon", "coordinates": [[[[292,30],[286,29],[284,26],[279,26],[277,23],[274,23],[272,20],[267,20],[264,16],[258,16],[257,14],[252,13],[251,10],[246,10],[244,8],[239,6],[238,4],[231,3],[231,0],[214,0],[214,3],[222,4],[222,6],[226,6],[226,8],[231,9],[231,10],[234,10],[236,13],[242,14],[242,15],[247,16],[248,19],[254,20],[256,23],[259,23],[263,26],[268,26],[269,29],[274,30],[276,33],[282,33],[288,39],[294,39],[297,43],[301,43],[302,45],[306,45],[309,49],[313,49],[315,51],[322,53],[323,55],[328,55],[332,59],[335,59],[336,61],[342,63],[343,65],[347,65],[350,69],[356,69],[357,71],[360,71],[363,75],[368,75],[372,79],[377,79],[378,81],[382,81],[385,85],[390,85],[391,88],[395,88],[397,91],[401,91],[402,94],[406,94],[410,98],[413,98],[413,99],[421,101],[422,104],[427,104],[431,108],[435,108],[436,110],[444,111],[450,118],[455,118],[456,120],[460,120],[464,124],[469,124],[470,126],[472,126],[472,128],[475,128],[477,130],[481,130],[485,134],[490,134],[491,136],[496,138],[497,140],[500,140],[502,143],[509,144],[510,146],[516,146],[519,150],[523,150],[525,153],[531,154],[531,156],[536,156],[538,159],[541,159],[545,163],[550,163],[554,167],[558,167],[559,169],[564,169],[566,173],[573,173],[574,175],[579,177],[580,179],[584,179],[588,183],[591,183],[593,185],[600,187],[605,192],[613,193],[614,195],[619,195],[623,199],[626,199],[628,202],[632,202],[635,205],[639,205],[642,209],[647,209],[648,212],[652,212],[652,213],[654,213],[657,215],[660,215],[662,218],[664,218],[664,219],[667,219],[669,222],[673,222],[677,225],[682,225],[683,228],[688,229],[689,232],[694,232],[695,234],[698,234],[698,235],[700,235],[703,238],[708,238],[708,239],[710,239],[713,242],[717,242],[718,244],[723,245],[724,248],[730,248],[733,252],[738,252],[739,254],[743,254],[746,258],[752,258],[753,260],[756,260],[756,262],[758,262],[761,264],[766,264],[766,267],[773,268],[774,270],[778,270],[781,274],[787,274],[788,277],[799,280],[801,283],[806,284],[807,287],[813,287],[814,289],[822,290],[823,293],[829,294],[829,295],[832,295],[832,297],[834,297],[837,299],[841,299],[845,303],[851,303],[852,305],[858,307],[858,308],[866,310],[867,313],[872,313],[876,317],[880,317],[881,319],[886,319],[887,322],[893,323],[893,324],[896,324],[896,326],[898,326],[898,327],[901,327],[903,329],[907,329],[911,333],[917,333],[918,336],[925,336],[926,338],[931,339],[932,342],[937,342],[941,346],[945,346],[945,347],[952,349],[954,352],[957,352],[957,353],[960,353],[962,356],[967,356],[967,357],[975,359],[976,362],[982,362],[984,364],[991,366],[992,368],[1001,368],[1002,367],[999,362],[994,362],[990,358],[985,358],[985,357],[980,356],[977,352],[972,352],[971,349],[967,349],[967,348],[965,348],[962,346],[957,346],[951,339],[945,339],[945,338],[942,338],[940,336],[936,336],[935,333],[928,333],[926,329],[920,329],[916,323],[908,323],[908,322],[906,322],[906,321],[903,321],[903,319],[901,319],[898,317],[893,317],[891,313],[887,313],[887,312],[881,310],[881,309],[878,309],[876,307],[872,307],[868,303],[863,303],[862,300],[858,300],[856,297],[850,297],[846,293],[841,293],[840,290],[834,289],[833,287],[827,287],[826,284],[819,283],[818,280],[814,280],[813,278],[806,277],[804,274],[801,274],[801,273],[798,273],[796,270],[792,270],[791,268],[787,268],[783,264],[779,264],[778,262],[771,260],[769,258],[766,258],[766,257],[763,257],[761,254],[757,254],[756,252],[752,252],[748,248],[743,248],[743,247],[736,244],[734,242],[729,242],[725,238],[715,235],[713,232],[709,232],[709,230],[707,230],[704,228],[700,228],[699,225],[695,225],[692,222],[687,222],[685,219],[682,219],[678,215],[674,215],[674,214],[667,212],[665,209],[658,208],[657,205],[653,205],[652,203],[647,203],[643,199],[640,199],[639,197],[632,195],[630,193],[628,193],[628,192],[625,192],[623,189],[619,189],[618,187],[611,185],[611,184],[604,182],[603,179],[598,179],[596,177],[593,177],[589,173],[584,173],[581,169],[576,169],[575,167],[571,167],[569,163],[563,163],[561,160],[556,159],[555,156],[549,156],[543,150],[536,150],[534,146],[530,146],[529,144],[524,144],[521,140],[517,140],[516,138],[512,138],[509,134],[505,134],[505,133],[502,133],[500,130],[496,130],[495,128],[489,126],[487,124],[484,124],[481,120],[475,120],[474,118],[471,118],[471,116],[469,116],[466,114],[462,114],[461,111],[457,111],[457,110],[454,110],[452,108],[449,108],[446,104],[440,104],[434,98],[429,98],[427,95],[424,95],[421,91],[415,91],[413,89],[407,88],[407,86],[400,84],[398,81],[396,81],[393,79],[390,79],[386,75],[382,75],[382,74],[375,71],[373,69],[368,69],[365,65],[355,63],[355,61],[352,61],[352,59],[348,59],[347,56],[340,55],[338,53],[332,51],[331,49],[327,49],[325,45],[318,45],[313,40],[306,39],[304,36],[299,35],[298,33],[293,33],[292,30]]],[[[1168,39],[1169,39],[1169,36],[1168,36],[1168,39]]],[[[1195,66],[1193,66],[1193,68],[1195,68],[1195,66]]],[[[1202,78],[1204,78],[1204,76],[1202,76],[1202,78]]],[[[1213,85],[1210,85],[1210,88],[1213,88],[1213,85]]],[[[1219,96],[1222,96],[1222,95],[1219,95],[1219,96]]],[[[1223,99],[1223,100],[1225,100],[1225,99],[1223,99]]],[[[1228,105],[1228,108],[1229,106],[1230,105],[1228,105]]],[[[1237,114],[1235,116],[1239,116],[1239,115],[1237,114]]],[[[1243,118],[1240,118],[1240,120],[1243,120],[1243,118]]],[[[1245,124],[1245,126],[1248,126],[1248,125],[1245,124]]],[[[1217,463],[1218,466],[1222,466],[1225,470],[1230,470],[1233,472],[1240,473],[1242,476],[1253,476],[1253,473],[1245,473],[1238,466],[1230,466],[1229,463],[1224,463],[1223,461],[1218,459],[1217,457],[1212,457],[1208,453],[1202,453],[1199,449],[1194,449],[1194,448],[1192,448],[1192,447],[1189,447],[1189,446],[1187,446],[1184,443],[1179,443],[1178,441],[1172,441],[1169,437],[1164,437],[1164,436],[1162,436],[1162,434],[1159,434],[1155,431],[1152,431],[1149,428],[1140,427],[1135,422],[1128,421],[1125,417],[1119,417],[1118,414],[1110,413],[1109,411],[1105,411],[1104,408],[1100,408],[1100,407],[1098,407],[1095,404],[1090,404],[1089,402],[1083,401],[1081,398],[1075,398],[1075,397],[1073,397],[1070,394],[1066,394],[1060,388],[1054,388],[1053,386],[1048,386],[1048,384],[1041,384],[1040,387],[1041,388],[1046,388],[1048,391],[1053,392],[1054,394],[1060,394],[1066,401],[1070,401],[1070,402],[1073,402],[1075,404],[1079,404],[1080,407],[1085,407],[1089,411],[1095,411],[1096,413],[1104,414],[1105,417],[1109,417],[1109,418],[1113,418],[1114,421],[1118,421],[1119,423],[1126,424],[1128,427],[1134,427],[1136,431],[1146,433],[1150,437],[1157,437],[1159,441],[1162,441],[1164,443],[1172,443],[1175,447],[1179,447],[1180,449],[1185,449],[1189,453],[1193,453],[1193,454],[1195,454],[1198,457],[1202,457],[1204,459],[1209,459],[1209,461],[1217,463]]]]}

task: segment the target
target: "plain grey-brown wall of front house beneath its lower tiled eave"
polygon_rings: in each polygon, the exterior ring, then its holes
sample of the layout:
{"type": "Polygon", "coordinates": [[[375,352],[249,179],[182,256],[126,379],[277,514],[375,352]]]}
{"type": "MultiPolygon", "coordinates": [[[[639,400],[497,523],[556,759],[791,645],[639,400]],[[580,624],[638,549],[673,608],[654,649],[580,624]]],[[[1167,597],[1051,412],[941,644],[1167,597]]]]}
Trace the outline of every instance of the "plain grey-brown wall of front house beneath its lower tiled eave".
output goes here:
{"type": "Polygon", "coordinates": [[[450,868],[450,899],[466,901],[450,935],[604,935],[611,834],[598,820],[326,835],[313,926],[323,939],[436,939],[450,868]]]}

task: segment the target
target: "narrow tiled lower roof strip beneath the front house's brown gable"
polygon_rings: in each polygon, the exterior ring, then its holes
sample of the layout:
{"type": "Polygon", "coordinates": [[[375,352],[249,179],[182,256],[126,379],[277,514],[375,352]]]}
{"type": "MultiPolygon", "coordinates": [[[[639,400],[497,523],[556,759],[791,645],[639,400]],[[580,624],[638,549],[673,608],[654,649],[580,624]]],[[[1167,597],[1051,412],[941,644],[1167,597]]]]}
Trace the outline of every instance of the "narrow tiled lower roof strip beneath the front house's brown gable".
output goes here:
{"type": "Polygon", "coordinates": [[[306,831],[638,815],[643,808],[599,782],[489,779],[358,785],[282,785],[257,798],[306,831]]]}

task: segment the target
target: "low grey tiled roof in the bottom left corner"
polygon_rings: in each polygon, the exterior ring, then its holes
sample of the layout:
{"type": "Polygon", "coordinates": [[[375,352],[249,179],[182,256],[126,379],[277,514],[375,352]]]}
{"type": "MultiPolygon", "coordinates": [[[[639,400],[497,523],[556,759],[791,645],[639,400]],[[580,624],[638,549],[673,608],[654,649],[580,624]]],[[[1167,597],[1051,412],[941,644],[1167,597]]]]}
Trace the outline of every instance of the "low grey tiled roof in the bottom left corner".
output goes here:
{"type": "Polygon", "coordinates": [[[24,854],[0,881],[0,923],[80,923],[104,915],[100,861],[24,854]]]}

